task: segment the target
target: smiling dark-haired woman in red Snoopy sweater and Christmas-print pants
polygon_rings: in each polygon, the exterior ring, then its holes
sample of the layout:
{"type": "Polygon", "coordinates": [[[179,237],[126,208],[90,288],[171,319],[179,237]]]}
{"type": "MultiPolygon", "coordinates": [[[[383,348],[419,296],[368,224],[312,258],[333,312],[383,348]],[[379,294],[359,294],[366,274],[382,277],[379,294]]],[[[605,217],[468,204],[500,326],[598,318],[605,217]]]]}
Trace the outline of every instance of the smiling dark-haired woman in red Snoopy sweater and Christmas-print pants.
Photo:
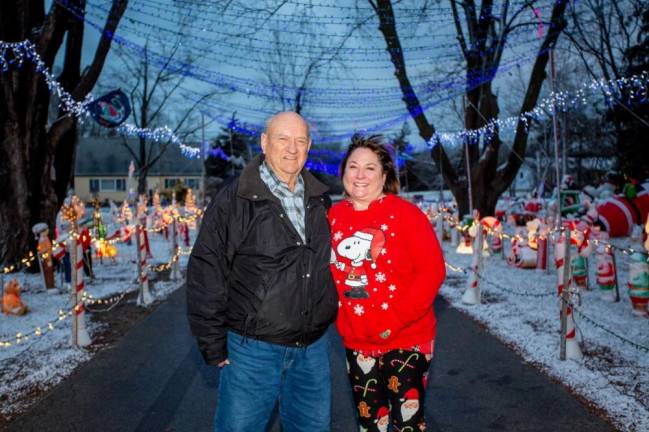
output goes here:
{"type": "Polygon", "coordinates": [[[425,430],[444,257],[428,218],[397,196],[381,136],[354,136],[341,174],[347,199],[329,212],[331,271],[358,420],[367,430],[425,430]]]}

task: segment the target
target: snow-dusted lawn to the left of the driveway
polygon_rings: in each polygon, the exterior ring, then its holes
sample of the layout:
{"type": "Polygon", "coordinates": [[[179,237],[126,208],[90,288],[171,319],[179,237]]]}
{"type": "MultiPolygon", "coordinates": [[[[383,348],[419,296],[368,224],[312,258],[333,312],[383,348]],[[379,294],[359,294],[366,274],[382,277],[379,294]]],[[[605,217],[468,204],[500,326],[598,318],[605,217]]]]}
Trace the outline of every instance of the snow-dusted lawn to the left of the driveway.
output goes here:
{"type": "MultiPolygon", "coordinates": [[[[110,215],[104,212],[103,220],[106,223],[110,215]]],[[[108,227],[111,233],[112,227],[108,227]]],[[[190,231],[191,241],[195,231],[190,231]]],[[[151,254],[153,259],[149,264],[159,265],[169,262],[171,258],[170,242],[161,234],[149,233],[151,254]]],[[[190,243],[191,244],[191,243],[190,243]]],[[[181,239],[179,245],[182,251],[187,248],[181,239]]],[[[135,238],[132,245],[118,243],[116,260],[104,260],[100,263],[93,256],[93,268],[96,275],[94,281],[86,279],[86,291],[97,299],[110,299],[108,305],[95,304],[88,309],[105,310],[102,313],[114,313],[107,310],[114,301],[125,300],[120,294],[138,289],[135,238]]],[[[180,267],[185,267],[187,256],[180,256],[180,267]]],[[[55,275],[57,287],[62,285],[62,276],[55,275]]],[[[149,271],[149,278],[155,275],[149,271]]],[[[71,320],[69,317],[59,320],[59,311],[70,310],[69,294],[48,294],[40,274],[16,273],[5,276],[5,282],[11,278],[18,279],[22,286],[23,302],[30,311],[22,317],[13,317],[0,314],[0,341],[11,342],[11,347],[0,347],[0,414],[13,417],[16,413],[25,410],[34,402],[33,394],[42,393],[69,376],[81,363],[93,356],[93,351],[73,348],[70,345],[71,320]],[[45,330],[48,323],[52,323],[53,330],[44,332],[36,337],[34,330],[37,327],[45,330]],[[15,344],[17,333],[32,335],[28,340],[15,344]]],[[[156,281],[153,283],[152,295],[156,300],[167,297],[183,283],[178,281],[156,281]]],[[[88,331],[92,338],[94,332],[99,330],[99,325],[86,319],[88,331]]]]}

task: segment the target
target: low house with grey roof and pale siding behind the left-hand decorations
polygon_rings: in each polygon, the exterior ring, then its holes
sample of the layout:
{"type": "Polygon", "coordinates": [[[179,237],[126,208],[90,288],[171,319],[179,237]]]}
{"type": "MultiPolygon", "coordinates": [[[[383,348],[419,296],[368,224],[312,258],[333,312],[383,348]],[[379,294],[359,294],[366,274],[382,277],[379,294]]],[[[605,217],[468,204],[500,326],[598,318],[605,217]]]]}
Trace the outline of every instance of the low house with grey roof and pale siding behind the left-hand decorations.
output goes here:
{"type": "MultiPolygon", "coordinates": [[[[130,138],[131,148],[137,149],[135,138],[130,138]]],[[[153,144],[156,152],[159,144],[153,144]]],[[[147,144],[147,147],[149,144],[147,144]]],[[[123,145],[123,138],[79,137],[75,160],[74,190],[79,198],[91,201],[123,201],[127,196],[128,167],[133,159],[123,145]]],[[[171,193],[179,184],[198,191],[201,187],[202,160],[183,155],[178,146],[169,145],[165,153],[149,170],[147,193],[156,189],[171,193]]],[[[137,172],[133,179],[137,190],[137,172]]]]}

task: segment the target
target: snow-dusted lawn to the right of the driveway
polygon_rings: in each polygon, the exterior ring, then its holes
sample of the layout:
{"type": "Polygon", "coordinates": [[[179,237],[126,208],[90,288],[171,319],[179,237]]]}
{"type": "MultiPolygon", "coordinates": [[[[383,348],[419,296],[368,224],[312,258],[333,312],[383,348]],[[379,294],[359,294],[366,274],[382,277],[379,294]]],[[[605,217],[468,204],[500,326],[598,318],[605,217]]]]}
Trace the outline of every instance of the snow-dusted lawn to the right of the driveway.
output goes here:
{"type": "MultiPolygon", "coordinates": [[[[625,240],[613,243],[630,246],[625,240]]],[[[448,243],[444,250],[449,264],[469,267],[470,255],[457,254],[448,243]]],[[[649,322],[631,314],[626,289],[628,256],[619,252],[616,256],[621,302],[600,299],[596,287],[582,292],[582,304],[577,309],[595,324],[575,314],[584,353],[581,361],[559,360],[560,306],[553,266],[546,274],[508,266],[502,256],[485,258],[484,280],[480,281],[483,304],[462,304],[467,276],[450,269],[441,295],[513,346],[526,361],[606,411],[620,429],[649,431],[649,352],[615,336],[649,348],[649,322]],[[548,295],[529,295],[544,293],[548,295]]],[[[592,261],[590,281],[594,286],[596,266],[592,261]]]]}

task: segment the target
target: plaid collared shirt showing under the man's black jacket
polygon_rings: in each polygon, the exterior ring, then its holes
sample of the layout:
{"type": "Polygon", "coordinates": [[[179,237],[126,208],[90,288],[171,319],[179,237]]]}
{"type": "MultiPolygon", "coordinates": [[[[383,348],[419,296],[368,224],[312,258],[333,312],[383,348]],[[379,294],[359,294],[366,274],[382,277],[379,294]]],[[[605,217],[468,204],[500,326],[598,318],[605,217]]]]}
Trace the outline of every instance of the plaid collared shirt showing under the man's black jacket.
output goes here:
{"type": "Polygon", "coordinates": [[[259,175],[261,180],[266,183],[268,189],[282,203],[282,207],[291,221],[295,230],[300,234],[302,241],[306,241],[306,232],[304,228],[304,180],[299,175],[295,183],[295,191],[291,192],[288,184],[281,181],[273,170],[264,161],[259,165],[259,175]]]}

